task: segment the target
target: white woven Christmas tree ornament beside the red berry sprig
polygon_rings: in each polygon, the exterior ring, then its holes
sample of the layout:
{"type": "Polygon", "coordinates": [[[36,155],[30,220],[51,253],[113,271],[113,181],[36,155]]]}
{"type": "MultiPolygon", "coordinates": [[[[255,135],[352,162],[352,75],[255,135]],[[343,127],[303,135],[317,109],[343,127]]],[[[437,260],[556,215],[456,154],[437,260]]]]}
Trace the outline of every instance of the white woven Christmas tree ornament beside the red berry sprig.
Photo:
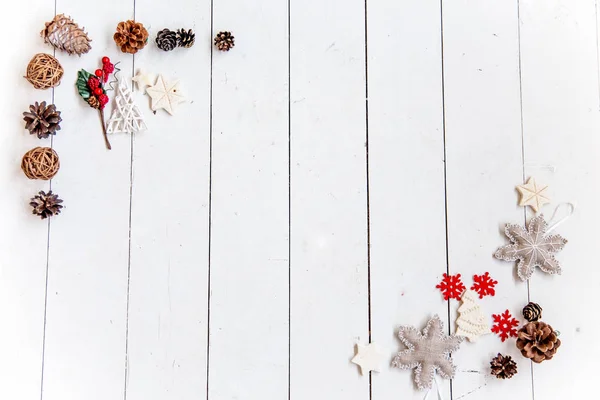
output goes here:
{"type": "Polygon", "coordinates": [[[134,133],[147,130],[144,117],[133,100],[131,89],[119,82],[115,109],[106,124],[106,133],[134,133]]]}

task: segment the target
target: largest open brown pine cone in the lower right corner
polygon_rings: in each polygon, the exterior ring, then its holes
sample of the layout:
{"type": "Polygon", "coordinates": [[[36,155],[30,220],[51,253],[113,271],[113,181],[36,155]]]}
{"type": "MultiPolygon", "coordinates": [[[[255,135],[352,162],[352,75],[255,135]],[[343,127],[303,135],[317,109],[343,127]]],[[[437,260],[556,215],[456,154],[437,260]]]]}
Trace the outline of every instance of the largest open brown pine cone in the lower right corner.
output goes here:
{"type": "Polygon", "coordinates": [[[559,347],[560,339],[545,322],[528,322],[519,329],[517,348],[521,350],[523,357],[530,358],[533,362],[551,360],[559,347]]]}

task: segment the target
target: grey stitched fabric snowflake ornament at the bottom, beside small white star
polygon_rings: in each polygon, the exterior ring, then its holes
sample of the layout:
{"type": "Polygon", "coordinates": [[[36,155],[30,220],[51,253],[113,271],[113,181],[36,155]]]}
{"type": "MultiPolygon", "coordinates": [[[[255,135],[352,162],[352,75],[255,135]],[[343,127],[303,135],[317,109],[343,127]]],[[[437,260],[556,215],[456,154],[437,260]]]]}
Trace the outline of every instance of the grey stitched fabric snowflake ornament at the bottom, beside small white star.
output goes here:
{"type": "Polygon", "coordinates": [[[401,326],[398,338],[407,347],[392,361],[393,367],[415,370],[415,382],[419,389],[431,389],[436,371],[446,379],[454,378],[456,367],[450,353],[456,351],[462,337],[444,333],[444,324],[434,315],[423,333],[412,326],[401,326]]]}

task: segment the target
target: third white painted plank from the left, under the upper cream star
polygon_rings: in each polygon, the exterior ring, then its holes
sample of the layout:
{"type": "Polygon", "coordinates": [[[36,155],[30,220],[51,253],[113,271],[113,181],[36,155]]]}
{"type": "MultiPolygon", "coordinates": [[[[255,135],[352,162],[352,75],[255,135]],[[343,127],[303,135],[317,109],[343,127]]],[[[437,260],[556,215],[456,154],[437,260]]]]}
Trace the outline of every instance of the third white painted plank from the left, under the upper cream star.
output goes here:
{"type": "Polygon", "coordinates": [[[136,18],[150,32],[136,70],[179,79],[188,103],[174,116],[153,114],[136,92],[148,131],[133,148],[127,399],[199,399],[207,365],[210,2],[137,0],[136,18]],[[194,47],[157,48],[159,30],[184,27],[194,29],[194,47]]]}

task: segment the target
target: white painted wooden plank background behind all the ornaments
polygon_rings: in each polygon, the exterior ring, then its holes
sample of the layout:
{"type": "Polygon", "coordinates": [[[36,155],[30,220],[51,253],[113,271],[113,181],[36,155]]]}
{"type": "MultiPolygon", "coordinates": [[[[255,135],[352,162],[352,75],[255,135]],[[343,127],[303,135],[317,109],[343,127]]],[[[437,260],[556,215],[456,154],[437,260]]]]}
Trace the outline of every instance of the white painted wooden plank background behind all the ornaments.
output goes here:
{"type": "MultiPolygon", "coordinates": [[[[401,324],[457,303],[442,273],[490,271],[488,314],[528,298],[561,332],[532,366],[514,340],[465,343],[444,398],[579,399],[597,380],[600,91],[595,0],[24,0],[5,6],[0,95],[0,399],[422,399],[412,373],[350,364],[369,338],[390,354],[401,324]],[[84,25],[84,57],[36,91],[22,75],[52,52],[55,12],[84,25]],[[197,44],[119,53],[117,23],[193,28],[197,44]],[[211,47],[231,30],[236,47],[211,47]],[[80,68],[120,60],[179,78],[190,102],[150,130],[115,135],[79,98],[80,68]],[[67,208],[30,215],[21,156],[48,144],[23,128],[54,101],[67,208]],[[366,101],[367,100],[367,101],[366,101]],[[555,172],[536,165],[552,165],[555,172]],[[528,176],[577,204],[558,231],[562,276],[527,285],[495,261],[524,222],[528,176]],[[497,352],[512,380],[489,377],[497,352]]],[[[587,397],[586,397],[587,396],[587,397]]],[[[591,397],[590,397],[591,396],[591,397]]]]}

